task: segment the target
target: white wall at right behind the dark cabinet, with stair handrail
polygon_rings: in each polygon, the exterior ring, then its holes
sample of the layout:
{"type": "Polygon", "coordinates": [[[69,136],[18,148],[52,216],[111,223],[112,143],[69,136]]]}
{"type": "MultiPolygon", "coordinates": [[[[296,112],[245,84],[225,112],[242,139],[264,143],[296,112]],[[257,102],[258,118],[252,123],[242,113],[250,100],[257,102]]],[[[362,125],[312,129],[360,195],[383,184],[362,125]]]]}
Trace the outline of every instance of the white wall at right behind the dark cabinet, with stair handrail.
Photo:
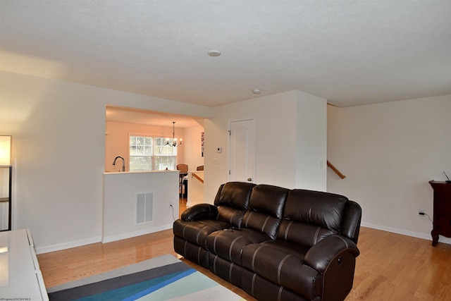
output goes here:
{"type": "MultiPolygon", "coordinates": [[[[362,225],[427,238],[433,214],[429,180],[451,174],[451,95],[337,108],[328,106],[328,192],[363,209],[362,225]]],[[[440,241],[448,241],[440,237],[440,241]]]]}

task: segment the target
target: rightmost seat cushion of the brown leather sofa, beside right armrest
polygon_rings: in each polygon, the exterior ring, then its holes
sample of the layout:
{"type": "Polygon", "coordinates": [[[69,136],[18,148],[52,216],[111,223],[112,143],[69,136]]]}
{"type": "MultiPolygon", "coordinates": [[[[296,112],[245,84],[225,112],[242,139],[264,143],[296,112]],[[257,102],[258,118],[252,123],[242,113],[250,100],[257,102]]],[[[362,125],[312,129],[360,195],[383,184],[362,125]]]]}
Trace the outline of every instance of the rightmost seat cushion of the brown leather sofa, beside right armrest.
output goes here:
{"type": "Polygon", "coordinates": [[[288,288],[307,300],[313,300],[321,292],[321,274],[304,264],[299,254],[286,252],[283,242],[247,245],[242,250],[242,266],[259,276],[288,288]],[[278,247],[273,247],[278,245],[278,247]]]}

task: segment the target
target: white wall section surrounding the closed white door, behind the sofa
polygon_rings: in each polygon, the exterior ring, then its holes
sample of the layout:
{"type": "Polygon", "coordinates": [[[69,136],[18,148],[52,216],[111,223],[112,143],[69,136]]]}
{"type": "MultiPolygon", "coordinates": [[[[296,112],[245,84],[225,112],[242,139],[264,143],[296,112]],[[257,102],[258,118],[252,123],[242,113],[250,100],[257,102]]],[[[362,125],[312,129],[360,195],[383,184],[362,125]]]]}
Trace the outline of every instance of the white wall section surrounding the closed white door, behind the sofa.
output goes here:
{"type": "Polygon", "coordinates": [[[219,185],[228,180],[228,122],[241,118],[255,120],[254,183],[326,190],[326,167],[320,168],[320,161],[326,161],[325,99],[290,91],[215,109],[214,118],[205,121],[205,202],[213,202],[219,185]],[[309,130],[316,135],[304,135],[309,130]]]}

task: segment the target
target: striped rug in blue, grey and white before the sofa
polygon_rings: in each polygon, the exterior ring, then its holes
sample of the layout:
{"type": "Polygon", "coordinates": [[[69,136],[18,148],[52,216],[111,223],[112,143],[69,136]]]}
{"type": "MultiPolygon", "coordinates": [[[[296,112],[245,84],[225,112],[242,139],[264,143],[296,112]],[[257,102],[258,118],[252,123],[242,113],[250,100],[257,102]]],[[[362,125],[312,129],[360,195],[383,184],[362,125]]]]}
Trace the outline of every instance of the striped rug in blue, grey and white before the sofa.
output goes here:
{"type": "Polygon", "coordinates": [[[48,288],[55,300],[244,300],[171,255],[48,288]]]}

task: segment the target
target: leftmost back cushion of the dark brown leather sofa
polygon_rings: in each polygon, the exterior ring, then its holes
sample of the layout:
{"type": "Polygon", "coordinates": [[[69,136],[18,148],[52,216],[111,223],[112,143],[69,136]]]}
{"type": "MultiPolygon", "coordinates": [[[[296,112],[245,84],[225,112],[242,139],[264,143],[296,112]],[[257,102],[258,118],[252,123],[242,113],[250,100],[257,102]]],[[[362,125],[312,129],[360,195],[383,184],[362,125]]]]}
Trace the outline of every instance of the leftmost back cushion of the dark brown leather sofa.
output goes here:
{"type": "Polygon", "coordinates": [[[253,183],[228,182],[221,185],[214,204],[218,207],[218,220],[226,221],[240,228],[245,211],[249,207],[249,198],[253,183]]]}

